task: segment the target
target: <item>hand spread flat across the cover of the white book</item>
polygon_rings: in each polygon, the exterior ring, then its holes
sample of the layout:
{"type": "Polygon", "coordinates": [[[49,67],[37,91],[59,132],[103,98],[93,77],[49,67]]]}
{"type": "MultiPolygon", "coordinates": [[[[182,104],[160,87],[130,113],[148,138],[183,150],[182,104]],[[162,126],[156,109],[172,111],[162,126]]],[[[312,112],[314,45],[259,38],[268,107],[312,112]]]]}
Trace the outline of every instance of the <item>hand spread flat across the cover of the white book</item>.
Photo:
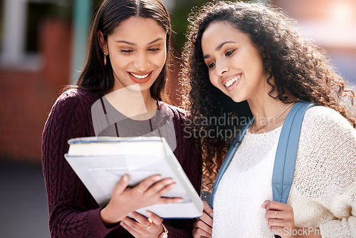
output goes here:
{"type": "Polygon", "coordinates": [[[172,179],[160,180],[160,175],[153,175],[135,187],[127,187],[128,175],[122,176],[112,191],[111,199],[100,211],[105,225],[115,224],[136,209],[150,205],[182,202],[180,197],[162,197],[175,186],[172,179]]]}

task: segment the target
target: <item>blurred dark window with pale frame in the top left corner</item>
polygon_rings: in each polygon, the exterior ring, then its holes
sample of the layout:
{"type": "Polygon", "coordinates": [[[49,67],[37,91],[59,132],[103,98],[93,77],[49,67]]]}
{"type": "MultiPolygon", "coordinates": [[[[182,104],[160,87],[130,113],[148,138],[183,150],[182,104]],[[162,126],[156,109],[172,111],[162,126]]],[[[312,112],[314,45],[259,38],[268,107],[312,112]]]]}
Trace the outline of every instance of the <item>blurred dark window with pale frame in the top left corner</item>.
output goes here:
{"type": "Polygon", "coordinates": [[[37,71],[41,67],[41,23],[58,16],[68,0],[0,0],[0,66],[37,71]]]}

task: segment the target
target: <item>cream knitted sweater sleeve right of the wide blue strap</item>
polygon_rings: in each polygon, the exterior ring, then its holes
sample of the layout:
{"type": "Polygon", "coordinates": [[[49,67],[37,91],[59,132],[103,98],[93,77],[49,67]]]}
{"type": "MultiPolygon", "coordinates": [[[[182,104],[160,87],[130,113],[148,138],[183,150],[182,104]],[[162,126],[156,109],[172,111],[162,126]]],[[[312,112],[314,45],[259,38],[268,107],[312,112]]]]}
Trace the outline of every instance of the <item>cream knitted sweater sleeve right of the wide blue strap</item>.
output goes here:
{"type": "Polygon", "coordinates": [[[356,237],[356,130],[324,107],[307,111],[303,130],[296,187],[329,211],[320,219],[323,238],[356,237]]]}

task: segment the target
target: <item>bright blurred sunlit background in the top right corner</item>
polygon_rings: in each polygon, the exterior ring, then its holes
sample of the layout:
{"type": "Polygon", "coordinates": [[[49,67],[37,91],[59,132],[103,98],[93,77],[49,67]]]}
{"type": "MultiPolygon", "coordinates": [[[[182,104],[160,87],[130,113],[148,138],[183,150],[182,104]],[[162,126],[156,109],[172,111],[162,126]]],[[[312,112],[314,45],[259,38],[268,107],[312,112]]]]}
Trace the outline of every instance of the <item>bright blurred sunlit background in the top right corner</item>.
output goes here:
{"type": "Polygon", "coordinates": [[[356,87],[356,1],[272,0],[298,20],[306,36],[328,51],[341,75],[356,87]]]}

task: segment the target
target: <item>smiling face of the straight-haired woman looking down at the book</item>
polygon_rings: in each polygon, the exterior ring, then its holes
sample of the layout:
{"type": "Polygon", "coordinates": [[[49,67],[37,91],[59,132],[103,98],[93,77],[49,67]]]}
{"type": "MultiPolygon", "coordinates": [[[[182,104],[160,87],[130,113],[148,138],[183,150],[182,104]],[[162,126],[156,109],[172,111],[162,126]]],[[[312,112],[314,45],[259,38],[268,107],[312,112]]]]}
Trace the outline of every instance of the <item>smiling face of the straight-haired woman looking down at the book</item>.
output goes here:
{"type": "Polygon", "coordinates": [[[142,95],[161,73],[167,58],[166,32],[154,19],[131,16],[122,21],[103,43],[110,56],[115,83],[112,90],[138,84],[142,95]]]}

